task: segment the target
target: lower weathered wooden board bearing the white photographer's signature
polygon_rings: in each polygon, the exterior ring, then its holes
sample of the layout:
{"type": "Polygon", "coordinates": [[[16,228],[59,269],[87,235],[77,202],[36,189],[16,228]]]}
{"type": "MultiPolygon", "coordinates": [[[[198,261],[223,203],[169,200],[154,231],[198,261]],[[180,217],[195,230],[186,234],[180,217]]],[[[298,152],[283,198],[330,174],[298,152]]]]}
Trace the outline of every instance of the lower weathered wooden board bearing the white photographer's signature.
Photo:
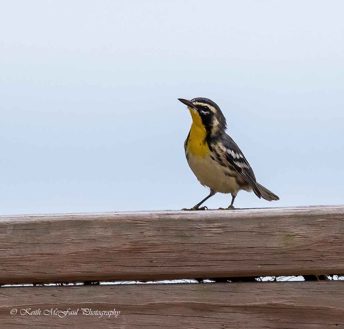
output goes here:
{"type": "Polygon", "coordinates": [[[344,329],[343,300],[340,281],[4,287],[0,328],[344,329]],[[20,315],[28,308],[41,314],[20,315]],[[51,309],[79,311],[43,314],[51,309]]]}

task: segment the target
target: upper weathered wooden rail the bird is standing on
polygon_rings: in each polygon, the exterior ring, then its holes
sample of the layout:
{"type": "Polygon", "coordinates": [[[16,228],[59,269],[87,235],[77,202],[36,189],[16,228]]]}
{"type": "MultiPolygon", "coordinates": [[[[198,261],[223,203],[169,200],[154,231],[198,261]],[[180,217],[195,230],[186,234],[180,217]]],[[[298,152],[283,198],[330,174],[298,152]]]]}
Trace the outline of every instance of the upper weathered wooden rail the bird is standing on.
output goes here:
{"type": "Polygon", "coordinates": [[[344,273],[344,206],[0,217],[0,283],[344,273]]]}

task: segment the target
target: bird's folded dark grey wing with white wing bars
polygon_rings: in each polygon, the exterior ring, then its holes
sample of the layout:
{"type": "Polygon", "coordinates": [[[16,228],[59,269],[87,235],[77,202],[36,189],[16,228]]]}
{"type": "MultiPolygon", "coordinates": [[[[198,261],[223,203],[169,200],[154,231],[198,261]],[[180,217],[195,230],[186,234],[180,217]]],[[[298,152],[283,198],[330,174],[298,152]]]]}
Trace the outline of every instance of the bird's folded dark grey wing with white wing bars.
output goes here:
{"type": "Polygon", "coordinates": [[[238,172],[238,174],[252,186],[253,191],[258,198],[261,197],[261,193],[257,186],[255,174],[246,160],[243,152],[235,144],[234,140],[227,134],[222,137],[222,151],[227,162],[238,172]]]}

